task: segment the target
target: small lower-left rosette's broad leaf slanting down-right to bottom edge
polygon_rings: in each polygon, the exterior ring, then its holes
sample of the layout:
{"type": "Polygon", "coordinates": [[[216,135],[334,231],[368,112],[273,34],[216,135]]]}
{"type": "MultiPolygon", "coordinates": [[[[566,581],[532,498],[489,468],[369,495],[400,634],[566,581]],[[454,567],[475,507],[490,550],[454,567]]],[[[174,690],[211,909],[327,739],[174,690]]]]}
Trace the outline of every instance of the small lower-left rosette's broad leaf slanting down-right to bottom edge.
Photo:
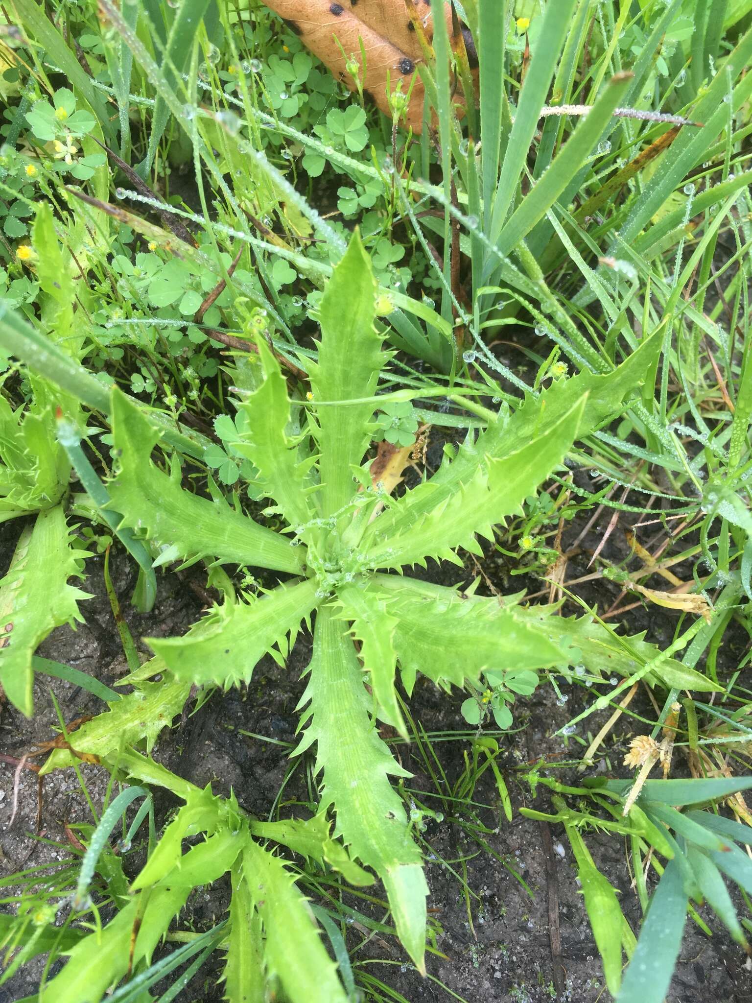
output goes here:
{"type": "Polygon", "coordinates": [[[290,1003],[348,1003],[316,920],[282,861],[250,841],[243,874],[264,924],[267,974],[279,978],[290,1003]]]}

